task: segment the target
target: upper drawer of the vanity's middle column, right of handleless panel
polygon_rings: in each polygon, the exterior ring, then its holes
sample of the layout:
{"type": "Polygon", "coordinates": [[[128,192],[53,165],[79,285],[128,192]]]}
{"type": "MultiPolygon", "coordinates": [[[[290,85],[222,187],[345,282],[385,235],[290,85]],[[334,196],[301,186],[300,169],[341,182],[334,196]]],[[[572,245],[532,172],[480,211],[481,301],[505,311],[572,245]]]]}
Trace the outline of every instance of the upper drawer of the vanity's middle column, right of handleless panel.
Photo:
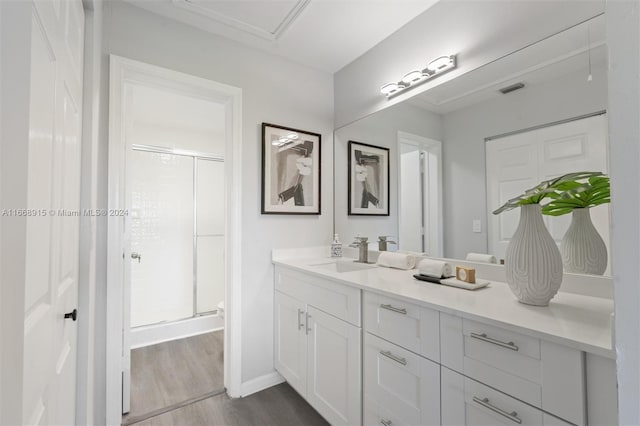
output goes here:
{"type": "Polygon", "coordinates": [[[440,360],[438,311],[376,293],[364,293],[364,328],[403,348],[440,360]]]}

